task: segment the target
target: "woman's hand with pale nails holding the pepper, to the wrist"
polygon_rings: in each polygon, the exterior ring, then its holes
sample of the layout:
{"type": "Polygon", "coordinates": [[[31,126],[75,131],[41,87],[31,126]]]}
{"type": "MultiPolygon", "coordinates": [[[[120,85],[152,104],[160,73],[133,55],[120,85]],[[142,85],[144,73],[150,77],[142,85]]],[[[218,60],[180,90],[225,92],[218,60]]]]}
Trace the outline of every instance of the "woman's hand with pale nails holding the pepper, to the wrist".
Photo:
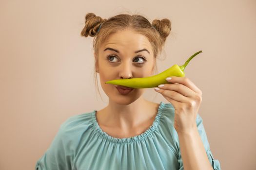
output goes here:
{"type": "Polygon", "coordinates": [[[155,90],[172,103],[175,108],[174,128],[178,134],[197,129],[196,118],[202,102],[201,90],[187,77],[172,76],[170,84],[158,85],[155,90]]]}

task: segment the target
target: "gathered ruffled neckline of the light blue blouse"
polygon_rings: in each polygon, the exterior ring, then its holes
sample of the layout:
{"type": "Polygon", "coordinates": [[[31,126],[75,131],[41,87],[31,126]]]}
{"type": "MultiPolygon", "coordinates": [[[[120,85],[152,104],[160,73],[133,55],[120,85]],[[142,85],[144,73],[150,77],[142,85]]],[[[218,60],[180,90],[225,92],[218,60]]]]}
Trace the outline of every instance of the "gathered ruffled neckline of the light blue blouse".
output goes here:
{"type": "Polygon", "coordinates": [[[93,126],[94,126],[94,129],[93,129],[94,133],[96,133],[98,136],[103,137],[104,139],[106,139],[110,142],[113,142],[113,143],[133,143],[133,142],[143,140],[146,137],[152,135],[152,133],[158,127],[164,107],[165,107],[165,103],[160,102],[160,104],[158,106],[157,116],[155,117],[155,120],[153,121],[152,125],[145,132],[143,132],[142,134],[140,134],[138,136],[132,136],[132,137],[127,137],[127,138],[117,138],[117,137],[109,136],[107,133],[103,132],[102,129],[100,128],[100,126],[98,125],[98,121],[96,119],[97,110],[94,110],[91,114],[91,118],[92,118],[92,122],[93,122],[93,126]]]}

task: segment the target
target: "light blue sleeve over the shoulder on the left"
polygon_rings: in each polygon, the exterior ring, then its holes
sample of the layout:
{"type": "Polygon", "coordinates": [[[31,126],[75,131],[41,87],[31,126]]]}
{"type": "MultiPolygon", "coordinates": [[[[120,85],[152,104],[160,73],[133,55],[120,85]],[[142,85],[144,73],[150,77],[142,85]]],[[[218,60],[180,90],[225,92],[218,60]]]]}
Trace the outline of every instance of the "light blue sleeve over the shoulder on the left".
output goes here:
{"type": "Polygon", "coordinates": [[[64,121],[50,147],[38,160],[37,168],[40,170],[43,167],[47,170],[69,169],[72,159],[76,155],[81,136],[86,134],[84,131],[88,131],[92,126],[91,116],[93,113],[94,111],[75,115],[64,121]]]}

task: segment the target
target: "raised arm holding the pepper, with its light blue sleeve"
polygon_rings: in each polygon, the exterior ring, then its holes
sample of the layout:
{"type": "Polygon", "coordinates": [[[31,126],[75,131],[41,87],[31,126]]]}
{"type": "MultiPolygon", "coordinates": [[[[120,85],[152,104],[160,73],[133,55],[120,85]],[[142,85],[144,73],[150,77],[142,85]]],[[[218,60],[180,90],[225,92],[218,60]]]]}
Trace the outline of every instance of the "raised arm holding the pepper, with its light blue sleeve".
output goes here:
{"type": "Polygon", "coordinates": [[[210,151],[202,119],[197,114],[202,102],[202,91],[186,77],[169,78],[166,79],[168,84],[158,85],[160,88],[155,89],[175,108],[174,128],[179,138],[179,170],[212,170],[212,167],[220,170],[218,161],[213,159],[210,151]]]}

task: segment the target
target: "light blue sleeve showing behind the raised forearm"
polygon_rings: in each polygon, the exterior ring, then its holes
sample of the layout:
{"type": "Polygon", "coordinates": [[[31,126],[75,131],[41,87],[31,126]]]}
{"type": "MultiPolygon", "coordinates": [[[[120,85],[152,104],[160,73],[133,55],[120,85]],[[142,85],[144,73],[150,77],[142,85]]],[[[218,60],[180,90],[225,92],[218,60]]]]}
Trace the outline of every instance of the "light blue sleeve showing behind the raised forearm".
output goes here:
{"type": "MultiPolygon", "coordinates": [[[[213,169],[214,170],[221,170],[219,161],[217,159],[214,159],[213,154],[210,150],[210,145],[209,145],[209,142],[208,142],[208,139],[207,139],[207,136],[206,136],[206,132],[204,130],[204,126],[203,126],[203,119],[199,116],[199,114],[197,114],[196,122],[197,122],[198,133],[199,133],[199,135],[202,139],[204,149],[206,151],[206,154],[208,156],[208,159],[209,159],[213,169]]],[[[178,163],[179,163],[179,170],[184,170],[180,151],[178,153],[178,163]]]]}

